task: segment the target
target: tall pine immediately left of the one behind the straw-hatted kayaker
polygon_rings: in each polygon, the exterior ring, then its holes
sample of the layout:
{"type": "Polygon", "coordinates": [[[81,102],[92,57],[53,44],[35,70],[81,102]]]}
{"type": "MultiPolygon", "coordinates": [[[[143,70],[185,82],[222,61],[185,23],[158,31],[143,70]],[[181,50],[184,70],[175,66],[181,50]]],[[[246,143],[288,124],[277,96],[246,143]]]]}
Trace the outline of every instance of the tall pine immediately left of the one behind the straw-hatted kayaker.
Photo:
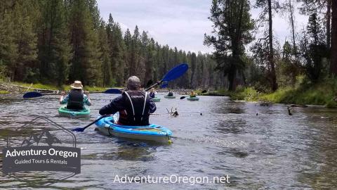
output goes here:
{"type": "Polygon", "coordinates": [[[60,86],[67,81],[71,58],[68,42],[65,5],[62,0],[44,1],[43,23],[39,34],[39,61],[41,80],[57,82],[60,86]]]}

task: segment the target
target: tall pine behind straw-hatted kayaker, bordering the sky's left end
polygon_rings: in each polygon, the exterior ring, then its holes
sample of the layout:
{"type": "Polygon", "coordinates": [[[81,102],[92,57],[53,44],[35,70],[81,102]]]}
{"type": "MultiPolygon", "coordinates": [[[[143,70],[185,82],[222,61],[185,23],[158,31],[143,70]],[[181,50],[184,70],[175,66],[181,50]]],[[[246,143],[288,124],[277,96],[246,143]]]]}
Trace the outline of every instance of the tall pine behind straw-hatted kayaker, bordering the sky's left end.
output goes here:
{"type": "Polygon", "coordinates": [[[100,85],[100,62],[98,34],[94,30],[88,1],[70,2],[70,35],[73,49],[70,80],[81,80],[83,84],[100,85]]]}

